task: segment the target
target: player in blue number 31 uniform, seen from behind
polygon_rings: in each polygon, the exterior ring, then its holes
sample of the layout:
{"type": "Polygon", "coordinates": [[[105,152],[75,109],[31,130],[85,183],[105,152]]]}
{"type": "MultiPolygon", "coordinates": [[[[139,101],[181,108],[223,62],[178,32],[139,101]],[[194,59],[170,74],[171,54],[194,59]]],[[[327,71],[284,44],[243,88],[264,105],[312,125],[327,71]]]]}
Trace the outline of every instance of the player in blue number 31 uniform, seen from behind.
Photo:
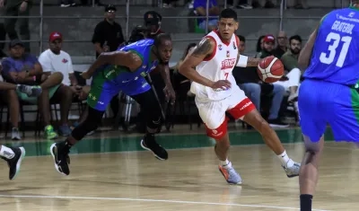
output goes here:
{"type": "Polygon", "coordinates": [[[359,142],[359,0],[328,13],[299,56],[306,68],[298,106],[306,153],[299,174],[301,210],[311,210],[318,181],[323,134],[359,142]]]}

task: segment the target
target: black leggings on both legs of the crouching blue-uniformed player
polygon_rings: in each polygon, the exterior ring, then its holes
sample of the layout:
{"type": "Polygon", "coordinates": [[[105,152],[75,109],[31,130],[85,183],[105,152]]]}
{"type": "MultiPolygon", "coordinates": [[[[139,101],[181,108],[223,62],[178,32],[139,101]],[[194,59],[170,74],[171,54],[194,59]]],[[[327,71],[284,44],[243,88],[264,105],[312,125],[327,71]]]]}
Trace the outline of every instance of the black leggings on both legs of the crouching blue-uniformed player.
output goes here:
{"type": "MultiPolygon", "coordinates": [[[[153,94],[153,90],[130,96],[141,105],[147,122],[147,127],[159,129],[161,127],[162,110],[153,94]]],[[[99,127],[105,111],[95,110],[89,107],[87,118],[78,127],[75,127],[71,136],[77,141],[83,139],[86,134],[99,127]]]]}

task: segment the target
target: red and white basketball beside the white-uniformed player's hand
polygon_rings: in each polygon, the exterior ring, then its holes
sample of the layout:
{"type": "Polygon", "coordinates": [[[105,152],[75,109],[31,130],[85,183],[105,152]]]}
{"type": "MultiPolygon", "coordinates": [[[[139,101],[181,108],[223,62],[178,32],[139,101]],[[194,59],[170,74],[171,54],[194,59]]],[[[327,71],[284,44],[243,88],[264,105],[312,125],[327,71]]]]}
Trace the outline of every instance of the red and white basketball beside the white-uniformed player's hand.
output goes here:
{"type": "Polygon", "coordinates": [[[265,57],[260,61],[257,72],[263,82],[275,83],[285,74],[285,67],[277,57],[265,57]]]}

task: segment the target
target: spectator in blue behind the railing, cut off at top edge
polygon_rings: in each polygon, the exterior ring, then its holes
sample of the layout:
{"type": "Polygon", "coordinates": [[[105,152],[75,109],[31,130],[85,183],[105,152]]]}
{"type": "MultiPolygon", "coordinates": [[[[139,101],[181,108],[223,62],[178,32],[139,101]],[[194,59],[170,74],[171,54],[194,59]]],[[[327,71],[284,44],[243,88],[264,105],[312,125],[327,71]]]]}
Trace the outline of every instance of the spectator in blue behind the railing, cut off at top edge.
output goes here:
{"type": "MultiPolygon", "coordinates": [[[[197,13],[198,16],[202,16],[204,18],[197,19],[198,27],[202,30],[206,30],[206,24],[208,24],[208,31],[213,31],[217,29],[217,18],[209,18],[208,22],[206,22],[206,3],[207,0],[195,0],[193,3],[193,9],[197,13]]],[[[209,0],[208,5],[208,16],[218,16],[220,13],[218,4],[216,0],[209,0]]]]}

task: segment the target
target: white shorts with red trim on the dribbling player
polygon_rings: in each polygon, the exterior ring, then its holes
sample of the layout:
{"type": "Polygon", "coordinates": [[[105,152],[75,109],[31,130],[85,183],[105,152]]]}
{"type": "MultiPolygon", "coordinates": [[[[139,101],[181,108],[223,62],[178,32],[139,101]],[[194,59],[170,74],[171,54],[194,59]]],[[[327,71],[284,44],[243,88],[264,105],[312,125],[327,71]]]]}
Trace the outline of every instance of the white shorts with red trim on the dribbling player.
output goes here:
{"type": "Polygon", "coordinates": [[[199,116],[206,124],[207,135],[215,138],[227,132],[228,118],[225,112],[231,114],[234,119],[242,119],[251,110],[256,109],[240,88],[221,101],[196,97],[196,105],[199,116]]]}

